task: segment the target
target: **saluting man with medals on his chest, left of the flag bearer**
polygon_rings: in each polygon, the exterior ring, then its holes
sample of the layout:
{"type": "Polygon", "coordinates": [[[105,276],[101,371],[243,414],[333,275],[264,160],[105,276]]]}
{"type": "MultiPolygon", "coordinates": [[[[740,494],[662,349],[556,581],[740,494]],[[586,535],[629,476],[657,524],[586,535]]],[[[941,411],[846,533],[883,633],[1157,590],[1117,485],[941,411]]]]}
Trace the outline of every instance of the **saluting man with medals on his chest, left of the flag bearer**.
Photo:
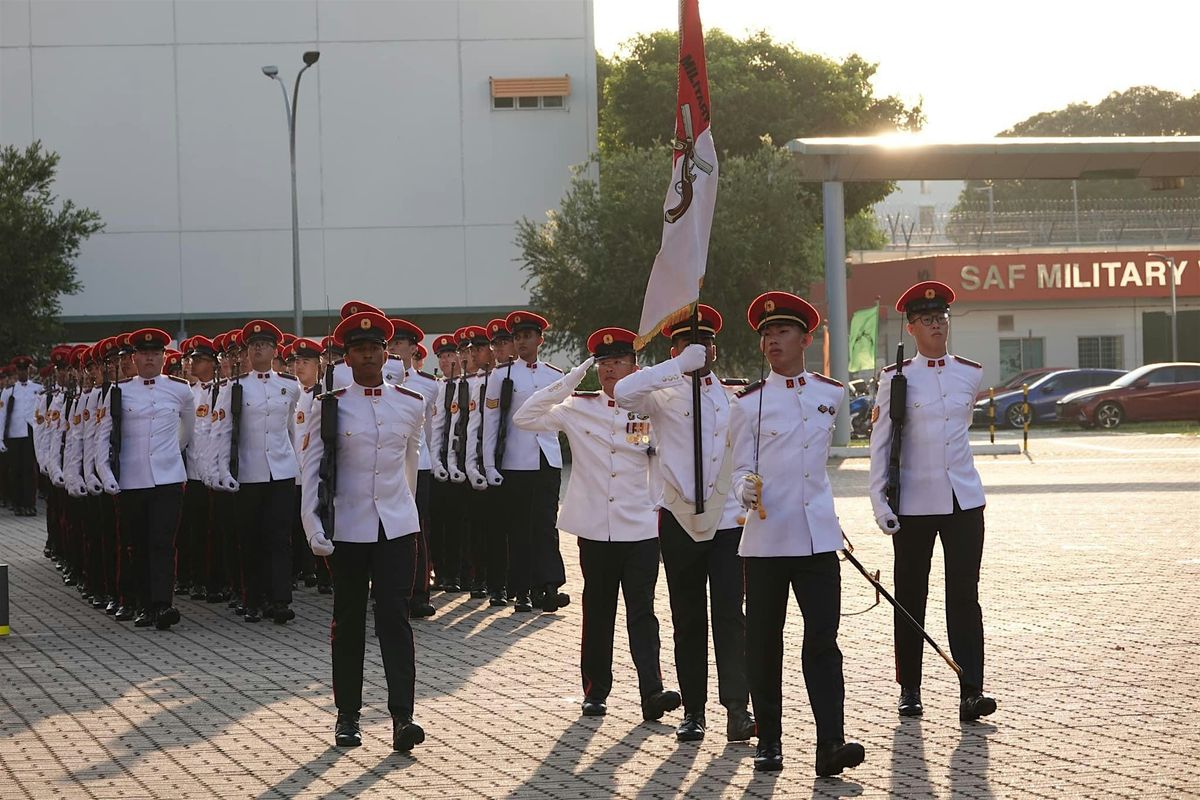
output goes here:
{"type": "Polygon", "coordinates": [[[661,720],[679,708],[680,698],[662,688],[659,666],[654,615],[659,531],[648,480],[654,440],[649,421],[620,408],[612,395],[617,381],[637,369],[635,338],[620,327],[594,332],[588,337],[592,357],[534,392],[514,413],[512,422],[523,431],[563,431],[571,444],[571,480],[558,528],[578,537],[583,571],[583,715],[608,711],[617,594],[622,591],[642,716],[661,720]],[[575,391],[593,361],[601,391],[575,391]]]}

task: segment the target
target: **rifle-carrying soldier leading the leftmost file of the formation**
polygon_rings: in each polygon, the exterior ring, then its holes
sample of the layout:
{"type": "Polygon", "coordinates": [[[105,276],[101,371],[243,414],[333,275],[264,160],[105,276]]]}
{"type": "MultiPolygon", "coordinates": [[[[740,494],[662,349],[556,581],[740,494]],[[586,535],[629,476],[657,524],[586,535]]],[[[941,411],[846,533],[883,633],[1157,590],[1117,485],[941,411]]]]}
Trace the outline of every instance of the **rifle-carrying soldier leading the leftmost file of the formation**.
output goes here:
{"type": "MultiPolygon", "coordinates": [[[[196,426],[196,401],[187,381],[162,375],[168,342],[170,336],[152,327],[130,335],[138,377],[121,383],[119,452],[103,447],[96,458],[104,491],[120,495],[121,543],[131,551],[140,609],[134,624],[158,630],[179,621],[172,604],[174,546],[187,480],[182,451],[196,426]]],[[[103,445],[114,441],[113,392],[102,408],[96,435],[103,445]]]]}

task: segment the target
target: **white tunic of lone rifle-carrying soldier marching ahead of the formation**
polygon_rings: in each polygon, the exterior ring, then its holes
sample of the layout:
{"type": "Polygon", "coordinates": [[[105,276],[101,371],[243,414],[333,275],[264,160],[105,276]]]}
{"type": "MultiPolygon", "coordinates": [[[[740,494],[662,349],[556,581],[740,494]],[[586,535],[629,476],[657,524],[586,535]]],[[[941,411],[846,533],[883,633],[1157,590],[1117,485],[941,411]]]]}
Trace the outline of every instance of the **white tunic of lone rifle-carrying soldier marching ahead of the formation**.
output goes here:
{"type": "Polygon", "coordinates": [[[388,539],[421,528],[413,489],[416,486],[418,432],[425,421],[425,398],[403,386],[373,389],[358,384],[337,392],[337,487],[334,530],[317,513],[322,404],[312,404],[301,452],[304,481],[300,518],[305,535],[317,533],[335,542],[374,542],[383,523],[388,539]],[[378,393],[377,393],[378,392],[378,393]]]}

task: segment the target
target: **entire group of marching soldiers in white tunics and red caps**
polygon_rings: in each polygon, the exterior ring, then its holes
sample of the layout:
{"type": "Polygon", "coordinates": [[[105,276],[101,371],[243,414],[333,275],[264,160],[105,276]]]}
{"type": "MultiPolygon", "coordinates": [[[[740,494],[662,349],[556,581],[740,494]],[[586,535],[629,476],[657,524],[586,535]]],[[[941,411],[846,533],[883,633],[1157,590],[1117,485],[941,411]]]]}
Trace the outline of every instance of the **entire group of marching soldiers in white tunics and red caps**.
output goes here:
{"type": "MultiPolygon", "coordinates": [[[[887,453],[875,440],[871,501],[894,535],[896,595],[918,621],[932,542],[943,540],[960,716],[973,720],[996,708],[983,693],[984,497],[966,439],[980,372],[946,351],[952,300],[949,287],[925,282],[896,305],[920,350],[905,374],[922,399],[905,431],[904,504],[887,505],[887,453]]],[[[40,385],[31,359],[5,369],[0,488],[8,507],[32,513],[40,474],[46,555],[92,607],[139,627],[179,624],[181,596],[284,625],[300,584],[332,594],[340,746],[361,744],[368,597],[394,747],[408,751],[425,738],[413,720],[409,619],[434,615],[434,591],[515,613],[569,604],[562,530],[577,537],[583,572],[582,712],[607,711],[622,593],[643,716],[682,705],[678,739],[703,739],[710,614],[726,738],[757,735],[756,769],[781,769],[792,591],[805,621],[816,771],[834,775],[865,757],[842,723],[842,535],[826,471],[845,390],[805,367],[820,320],[805,300],[767,293],[746,317],[770,366],[754,384],[714,374],[724,320],[706,305],[698,330],[664,327],[672,357],[647,368],[631,331],[605,327],[588,339],[590,357],[563,373],[539,357],[548,320],[515,311],[436,337],[438,378],[422,371],[425,332],[361,301],[346,303],[320,342],[252,320],[179,350],[156,329],[62,345],[40,385]],[[593,365],[600,391],[578,391],[593,365]],[[559,434],[572,458],[562,505],[559,434]],[[678,692],[659,663],[660,563],[678,692]]],[[[882,389],[878,402],[876,432],[887,427],[882,389]]],[[[899,712],[919,715],[920,634],[899,612],[896,652],[899,712]]]]}

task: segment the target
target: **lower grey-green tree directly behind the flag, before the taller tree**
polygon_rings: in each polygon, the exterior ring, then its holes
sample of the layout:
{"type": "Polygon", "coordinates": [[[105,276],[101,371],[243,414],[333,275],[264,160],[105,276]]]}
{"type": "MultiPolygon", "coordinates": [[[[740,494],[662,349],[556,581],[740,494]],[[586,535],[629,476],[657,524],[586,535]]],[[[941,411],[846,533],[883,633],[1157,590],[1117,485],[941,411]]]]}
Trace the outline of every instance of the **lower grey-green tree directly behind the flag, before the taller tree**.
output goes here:
{"type": "MultiPolygon", "coordinates": [[[[551,317],[547,339],[582,357],[587,336],[605,325],[637,329],[641,297],[662,234],[665,146],[632,148],[576,170],[560,207],[545,223],[523,219],[517,243],[533,306],[551,317]]],[[[721,161],[721,181],[702,300],[725,315],[724,374],[755,374],[758,337],[744,321],[750,301],[768,289],[808,290],[822,269],[820,201],[804,191],[791,157],[769,143],[721,161]]],[[[880,245],[870,221],[847,228],[851,248],[880,245]],[[874,237],[874,241],[869,241],[874,237]]],[[[666,356],[661,337],[648,348],[666,356]]]]}

